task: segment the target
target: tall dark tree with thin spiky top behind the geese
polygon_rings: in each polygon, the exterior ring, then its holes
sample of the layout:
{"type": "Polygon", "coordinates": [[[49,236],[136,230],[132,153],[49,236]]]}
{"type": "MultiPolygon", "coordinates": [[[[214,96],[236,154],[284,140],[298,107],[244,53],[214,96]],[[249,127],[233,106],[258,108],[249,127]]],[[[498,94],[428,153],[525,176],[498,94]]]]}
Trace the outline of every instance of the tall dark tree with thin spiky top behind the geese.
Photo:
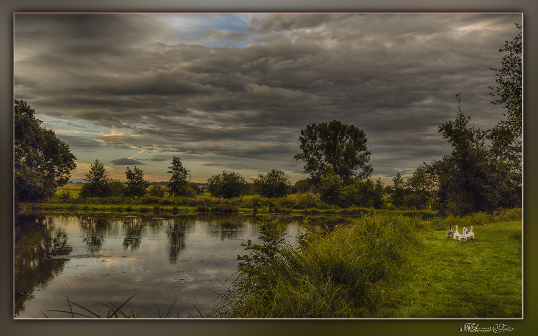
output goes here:
{"type": "MultiPolygon", "coordinates": [[[[458,95],[459,99],[459,95],[458,95]]],[[[483,133],[476,125],[469,125],[458,107],[455,120],[439,126],[444,142],[451,147],[450,155],[434,162],[438,178],[438,210],[441,213],[464,215],[476,211],[489,211],[499,205],[507,192],[507,171],[491,157],[483,133]]]]}

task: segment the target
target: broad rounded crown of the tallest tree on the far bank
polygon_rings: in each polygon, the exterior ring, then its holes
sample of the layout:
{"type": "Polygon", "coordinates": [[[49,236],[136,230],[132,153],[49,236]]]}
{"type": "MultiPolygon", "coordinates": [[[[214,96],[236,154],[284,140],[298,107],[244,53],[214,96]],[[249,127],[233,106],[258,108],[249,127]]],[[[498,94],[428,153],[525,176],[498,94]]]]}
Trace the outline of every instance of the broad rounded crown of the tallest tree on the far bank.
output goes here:
{"type": "Polygon", "coordinates": [[[350,185],[356,178],[372,175],[366,134],[353,125],[345,125],[338,120],[310,124],[301,130],[299,140],[302,153],[295,154],[294,159],[306,162],[303,167],[305,173],[310,174],[315,183],[321,178],[328,178],[329,168],[344,186],[350,185]]]}

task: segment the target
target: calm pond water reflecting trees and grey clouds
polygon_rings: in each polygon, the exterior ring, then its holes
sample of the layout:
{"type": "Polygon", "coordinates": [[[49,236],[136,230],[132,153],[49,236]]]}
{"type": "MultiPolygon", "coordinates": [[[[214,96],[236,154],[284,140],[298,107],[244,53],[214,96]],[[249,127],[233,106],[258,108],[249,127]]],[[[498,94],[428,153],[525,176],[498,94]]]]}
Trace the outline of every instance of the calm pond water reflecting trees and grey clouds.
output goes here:
{"type": "MultiPolygon", "coordinates": [[[[297,244],[305,215],[273,215],[297,244]]],[[[309,217],[313,225],[344,217],[309,217]]],[[[68,302],[106,316],[104,304],[126,304],[143,318],[200,317],[237,271],[240,243],[259,243],[258,219],[238,215],[54,212],[15,217],[15,318],[70,318],[68,302]]],[[[91,315],[83,309],[75,312],[91,315]]],[[[205,315],[204,315],[205,316],[205,315]]],[[[75,316],[77,317],[77,316],[75,316]]],[[[79,318],[82,318],[79,316],[79,318]]]]}

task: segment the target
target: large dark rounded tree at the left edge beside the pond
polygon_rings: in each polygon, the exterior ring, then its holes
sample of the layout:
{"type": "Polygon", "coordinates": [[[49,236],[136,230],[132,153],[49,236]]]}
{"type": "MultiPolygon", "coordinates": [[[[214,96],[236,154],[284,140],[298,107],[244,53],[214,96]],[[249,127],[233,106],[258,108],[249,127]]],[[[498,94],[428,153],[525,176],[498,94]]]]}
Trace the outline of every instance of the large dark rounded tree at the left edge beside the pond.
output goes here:
{"type": "Polygon", "coordinates": [[[15,201],[39,201],[52,196],[66,184],[76,168],[69,145],[56,138],[53,130],[41,127],[36,111],[15,99],[14,156],[15,201]]]}

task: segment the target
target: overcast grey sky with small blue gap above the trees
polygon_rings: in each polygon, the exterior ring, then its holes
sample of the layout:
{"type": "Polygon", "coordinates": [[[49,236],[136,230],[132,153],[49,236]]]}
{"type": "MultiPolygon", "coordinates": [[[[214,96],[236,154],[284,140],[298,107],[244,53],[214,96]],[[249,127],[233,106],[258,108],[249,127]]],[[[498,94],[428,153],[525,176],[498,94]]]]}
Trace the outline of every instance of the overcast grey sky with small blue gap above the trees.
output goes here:
{"type": "Polygon", "coordinates": [[[15,99],[111,178],[192,182],[223,170],[307,177],[299,136],[333,119],[366,133],[372,178],[392,184],[440,160],[438,127],[460,94],[471,123],[491,104],[521,13],[16,13],[15,99]]]}

